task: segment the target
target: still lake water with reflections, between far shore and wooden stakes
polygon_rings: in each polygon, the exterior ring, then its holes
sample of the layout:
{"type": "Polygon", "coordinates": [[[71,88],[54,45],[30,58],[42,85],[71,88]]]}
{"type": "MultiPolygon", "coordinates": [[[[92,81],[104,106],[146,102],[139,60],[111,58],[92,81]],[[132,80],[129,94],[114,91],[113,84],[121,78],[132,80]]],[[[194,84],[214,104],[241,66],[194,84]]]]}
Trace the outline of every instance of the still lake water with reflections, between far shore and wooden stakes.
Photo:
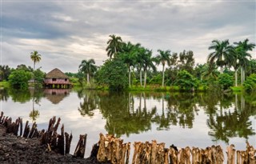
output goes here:
{"type": "MultiPolygon", "coordinates": [[[[234,144],[256,146],[256,94],[123,93],[95,90],[0,90],[6,116],[37,122],[46,129],[50,118],[62,118],[74,138],[87,134],[86,157],[99,133],[124,142],[166,142],[178,147],[206,148],[234,144]]],[[[58,133],[60,133],[58,131],[58,133]]],[[[132,148],[133,149],[133,148],[132,148]]]]}

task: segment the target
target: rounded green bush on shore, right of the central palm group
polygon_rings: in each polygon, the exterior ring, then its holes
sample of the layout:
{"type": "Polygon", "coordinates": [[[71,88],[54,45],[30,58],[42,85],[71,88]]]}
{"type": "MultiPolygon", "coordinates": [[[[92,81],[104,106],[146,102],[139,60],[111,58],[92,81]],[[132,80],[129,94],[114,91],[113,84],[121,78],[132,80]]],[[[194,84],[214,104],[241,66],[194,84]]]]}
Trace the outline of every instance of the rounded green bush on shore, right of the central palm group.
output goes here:
{"type": "Polygon", "coordinates": [[[177,74],[175,84],[180,90],[194,90],[198,88],[198,80],[186,70],[180,70],[177,74]]]}

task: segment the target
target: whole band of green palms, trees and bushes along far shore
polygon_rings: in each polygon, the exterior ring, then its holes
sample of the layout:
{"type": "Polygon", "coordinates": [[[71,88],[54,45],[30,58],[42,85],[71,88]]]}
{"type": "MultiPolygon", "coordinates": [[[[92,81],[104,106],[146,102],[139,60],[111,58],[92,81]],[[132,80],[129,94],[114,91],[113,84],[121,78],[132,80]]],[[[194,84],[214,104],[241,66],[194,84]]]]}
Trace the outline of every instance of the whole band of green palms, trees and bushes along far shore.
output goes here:
{"type": "MultiPolygon", "coordinates": [[[[107,41],[106,55],[109,59],[103,66],[96,66],[93,58],[84,59],[78,66],[78,73],[66,74],[71,82],[86,88],[103,86],[110,90],[147,90],[147,85],[150,85],[150,88],[158,90],[230,90],[230,86],[244,86],[245,90],[252,91],[256,88],[256,59],[250,55],[254,47],[255,44],[248,39],[234,42],[234,45],[230,45],[229,40],[214,40],[209,46],[206,63],[195,66],[192,50],[183,50],[179,54],[158,50],[158,54],[153,54],[153,50],[140,43],[124,42],[113,34],[107,41]],[[162,66],[162,71],[158,71],[158,66],[162,66]]],[[[23,88],[32,78],[34,85],[42,86],[45,73],[35,70],[41,54],[31,52],[30,58],[34,68],[0,66],[1,80],[23,88]],[[21,74],[30,73],[31,77],[24,75],[14,79],[18,70],[24,70],[21,74]]]]}

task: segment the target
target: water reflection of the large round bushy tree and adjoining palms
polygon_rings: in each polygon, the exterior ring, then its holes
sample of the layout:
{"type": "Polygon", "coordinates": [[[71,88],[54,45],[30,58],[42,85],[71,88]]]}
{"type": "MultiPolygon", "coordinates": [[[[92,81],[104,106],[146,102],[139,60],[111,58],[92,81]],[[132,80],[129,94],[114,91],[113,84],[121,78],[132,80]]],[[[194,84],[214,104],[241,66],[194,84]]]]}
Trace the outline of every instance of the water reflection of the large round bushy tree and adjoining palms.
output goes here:
{"type": "Polygon", "coordinates": [[[119,137],[122,134],[129,136],[151,129],[151,119],[156,113],[156,107],[147,110],[146,95],[143,93],[139,94],[139,105],[134,108],[133,98],[134,95],[130,93],[100,95],[99,109],[106,118],[105,128],[108,133],[119,137]]]}

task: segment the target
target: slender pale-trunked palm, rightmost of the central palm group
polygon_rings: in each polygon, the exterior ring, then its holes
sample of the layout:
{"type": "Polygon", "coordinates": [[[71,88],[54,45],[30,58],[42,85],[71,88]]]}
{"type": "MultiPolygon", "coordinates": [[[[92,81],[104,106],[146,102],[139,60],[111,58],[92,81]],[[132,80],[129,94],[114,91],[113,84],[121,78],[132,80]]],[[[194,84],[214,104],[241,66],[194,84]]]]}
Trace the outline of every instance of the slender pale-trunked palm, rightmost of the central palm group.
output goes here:
{"type": "Polygon", "coordinates": [[[170,50],[158,50],[158,56],[157,58],[157,64],[160,64],[160,62],[162,63],[162,86],[164,86],[165,83],[165,66],[166,66],[166,62],[167,64],[170,66],[170,50]]]}

